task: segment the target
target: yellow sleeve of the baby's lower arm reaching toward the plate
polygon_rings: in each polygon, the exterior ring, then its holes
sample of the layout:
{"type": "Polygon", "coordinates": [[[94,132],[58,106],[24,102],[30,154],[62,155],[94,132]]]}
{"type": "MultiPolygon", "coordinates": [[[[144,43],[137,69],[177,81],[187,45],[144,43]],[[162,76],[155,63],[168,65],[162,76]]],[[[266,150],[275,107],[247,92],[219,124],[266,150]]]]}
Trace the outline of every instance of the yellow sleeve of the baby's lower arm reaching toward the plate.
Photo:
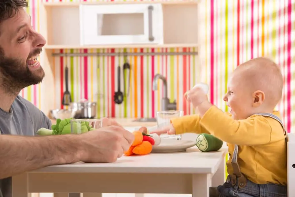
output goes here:
{"type": "Polygon", "coordinates": [[[200,125],[199,115],[186,115],[180,118],[171,120],[176,134],[182,133],[209,133],[203,126],[200,125]]]}

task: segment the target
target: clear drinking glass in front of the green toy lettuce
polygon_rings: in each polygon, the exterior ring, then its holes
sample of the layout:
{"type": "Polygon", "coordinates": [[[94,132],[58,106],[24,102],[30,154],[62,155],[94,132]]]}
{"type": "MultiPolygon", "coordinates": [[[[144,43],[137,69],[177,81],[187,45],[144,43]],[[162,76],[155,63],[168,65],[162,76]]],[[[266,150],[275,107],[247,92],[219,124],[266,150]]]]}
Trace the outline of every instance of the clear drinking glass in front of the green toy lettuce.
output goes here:
{"type": "Polygon", "coordinates": [[[71,133],[81,134],[102,127],[101,119],[72,119],[71,133]]]}

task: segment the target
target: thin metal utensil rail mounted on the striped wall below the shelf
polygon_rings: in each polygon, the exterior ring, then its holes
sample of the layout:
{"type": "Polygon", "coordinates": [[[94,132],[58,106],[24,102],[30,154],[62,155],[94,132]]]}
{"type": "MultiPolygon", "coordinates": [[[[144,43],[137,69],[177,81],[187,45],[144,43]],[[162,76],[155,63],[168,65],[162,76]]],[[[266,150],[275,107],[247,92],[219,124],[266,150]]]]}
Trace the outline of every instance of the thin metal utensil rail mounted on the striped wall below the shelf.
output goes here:
{"type": "Polygon", "coordinates": [[[198,52],[146,52],[146,53],[52,53],[52,56],[177,56],[198,55],[198,52]]]}

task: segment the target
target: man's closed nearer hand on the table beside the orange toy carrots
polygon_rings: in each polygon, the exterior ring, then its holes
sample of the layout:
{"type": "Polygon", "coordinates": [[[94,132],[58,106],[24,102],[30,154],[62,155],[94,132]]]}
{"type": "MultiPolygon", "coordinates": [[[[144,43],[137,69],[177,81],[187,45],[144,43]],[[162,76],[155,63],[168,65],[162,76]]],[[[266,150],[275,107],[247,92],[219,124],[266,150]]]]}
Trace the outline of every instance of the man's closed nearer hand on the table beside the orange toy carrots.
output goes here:
{"type": "Polygon", "coordinates": [[[105,126],[77,135],[78,157],[82,162],[115,162],[134,141],[122,126],[105,126]]]}

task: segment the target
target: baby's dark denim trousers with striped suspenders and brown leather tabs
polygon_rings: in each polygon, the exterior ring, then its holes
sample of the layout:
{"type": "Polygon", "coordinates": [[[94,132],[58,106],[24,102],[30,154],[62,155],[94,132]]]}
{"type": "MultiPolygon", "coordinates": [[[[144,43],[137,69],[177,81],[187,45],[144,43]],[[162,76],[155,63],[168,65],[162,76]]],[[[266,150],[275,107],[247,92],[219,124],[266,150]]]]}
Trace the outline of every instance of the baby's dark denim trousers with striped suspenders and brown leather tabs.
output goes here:
{"type": "MultiPolygon", "coordinates": [[[[268,116],[281,123],[286,135],[286,141],[288,140],[286,130],[280,118],[271,113],[258,113],[257,115],[268,116]]],[[[226,182],[223,185],[219,185],[217,188],[210,188],[210,197],[287,197],[287,186],[271,183],[256,184],[245,178],[237,163],[237,154],[238,146],[235,145],[231,161],[234,172],[232,175],[227,176],[226,182]]]]}

